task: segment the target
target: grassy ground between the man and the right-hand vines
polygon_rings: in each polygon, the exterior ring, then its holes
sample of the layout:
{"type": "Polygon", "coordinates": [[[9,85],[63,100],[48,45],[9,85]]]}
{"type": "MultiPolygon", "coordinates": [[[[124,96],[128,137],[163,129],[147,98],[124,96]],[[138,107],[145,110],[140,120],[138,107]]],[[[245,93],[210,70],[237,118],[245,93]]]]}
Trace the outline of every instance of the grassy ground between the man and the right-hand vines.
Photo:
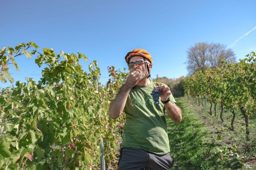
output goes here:
{"type": "Polygon", "coordinates": [[[219,107],[215,117],[208,113],[209,104],[198,106],[187,97],[176,101],[182,108],[182,122],[176,124],[167,118],[174,170],[256,170],[255,117],[250,117],[247,141],[240,111],[236,111],[235,131],[230,131],[230,111],[224,110],[222,123],[219,107]]]}

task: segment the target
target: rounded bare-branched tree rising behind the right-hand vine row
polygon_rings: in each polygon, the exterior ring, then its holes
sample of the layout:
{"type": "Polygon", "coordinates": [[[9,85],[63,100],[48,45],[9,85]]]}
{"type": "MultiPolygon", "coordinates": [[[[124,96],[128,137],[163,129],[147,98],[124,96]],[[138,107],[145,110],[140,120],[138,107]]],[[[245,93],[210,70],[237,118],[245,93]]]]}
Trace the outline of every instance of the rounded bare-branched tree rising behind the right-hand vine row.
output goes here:
{"type": "Polygon", "coordinates": [[[207,67],[220,66],[221,59],[236,62],[235,53],[220,43],[196,43],[189,48],[187,54],[186,64],[189,74],[198,70],[204,71],[207,67]]]}

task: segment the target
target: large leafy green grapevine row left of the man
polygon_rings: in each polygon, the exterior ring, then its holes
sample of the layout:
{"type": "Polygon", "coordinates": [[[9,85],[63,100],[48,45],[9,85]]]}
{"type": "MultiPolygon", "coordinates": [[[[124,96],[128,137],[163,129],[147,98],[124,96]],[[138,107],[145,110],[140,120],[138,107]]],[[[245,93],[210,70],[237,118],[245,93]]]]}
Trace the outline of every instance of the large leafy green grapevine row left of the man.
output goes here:
{"type": "Polygon", "coordinates": [[[104,86],[98,82],[96,61],[88,65],[89,72],[82,70],[80,59],[88,60],[84,54],[37,48],[30,42],[0,49],[2,82],[13,82],[8,65],[12,61],[18,70],[15,57],[37,54],[35,63],[44,65],[39,82],[28,78],[0,91],[0,169],[96,170],[101,136],[106,166],[116,169],[119,126],[124,120],[110,119],[108,108],[128,74],[109,67],[104,86]]]}

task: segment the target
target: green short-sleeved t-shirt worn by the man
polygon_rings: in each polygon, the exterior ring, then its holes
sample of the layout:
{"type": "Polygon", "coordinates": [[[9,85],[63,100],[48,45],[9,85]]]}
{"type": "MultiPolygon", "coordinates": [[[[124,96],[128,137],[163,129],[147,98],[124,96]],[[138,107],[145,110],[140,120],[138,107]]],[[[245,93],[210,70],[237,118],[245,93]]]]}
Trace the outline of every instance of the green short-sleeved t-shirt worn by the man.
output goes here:
{"type": "MultiPolygon", "coordinates": [[[[142,149],[156,154],[170,152],[164,105],[160,101],[160,105],[155,106],[150,95],[158,85],[163,84],[151,81],[149,85],[136,85],[131,89],[124,107],[126,122],[122,148],[142,149]]],[[[169,97],[172,103],[176,103],[172,94],[169,97]]]]}

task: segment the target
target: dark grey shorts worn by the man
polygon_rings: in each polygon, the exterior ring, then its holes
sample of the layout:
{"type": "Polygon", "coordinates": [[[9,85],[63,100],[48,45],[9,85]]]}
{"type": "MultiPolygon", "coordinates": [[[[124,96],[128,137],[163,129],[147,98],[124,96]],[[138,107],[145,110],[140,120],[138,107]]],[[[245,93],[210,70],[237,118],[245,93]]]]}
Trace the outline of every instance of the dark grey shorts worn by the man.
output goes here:
{"type": "Polygon", "coordinates": [[[119,170],[170,170],[174,158],[169,154],[158,155],[140,149],[122,148],[119,158],[119,170]]]}

